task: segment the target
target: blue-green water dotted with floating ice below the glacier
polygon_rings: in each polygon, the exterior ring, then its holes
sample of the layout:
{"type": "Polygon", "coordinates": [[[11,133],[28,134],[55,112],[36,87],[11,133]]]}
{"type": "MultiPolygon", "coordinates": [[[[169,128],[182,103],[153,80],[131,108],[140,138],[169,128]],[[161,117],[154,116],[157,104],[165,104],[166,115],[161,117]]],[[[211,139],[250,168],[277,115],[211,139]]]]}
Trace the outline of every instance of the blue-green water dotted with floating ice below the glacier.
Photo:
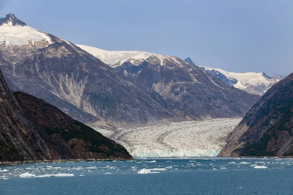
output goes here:
{"type": "Polygon", "coordinates": [[[0,195],[293,195],[292,178],[291,158],[31,163],[0,166],[0,195]]]}

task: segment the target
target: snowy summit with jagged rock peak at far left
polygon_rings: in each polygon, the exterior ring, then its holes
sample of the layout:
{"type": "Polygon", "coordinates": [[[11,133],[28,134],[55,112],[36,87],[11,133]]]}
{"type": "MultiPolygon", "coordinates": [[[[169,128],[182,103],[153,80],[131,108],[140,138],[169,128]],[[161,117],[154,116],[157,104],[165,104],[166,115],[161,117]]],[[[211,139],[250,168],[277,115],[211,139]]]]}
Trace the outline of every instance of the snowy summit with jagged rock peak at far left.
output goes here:
{"type": "Polygon", "coordinates": [[[52,41],[46,33],[27,26],[13,14],[7,14],[5,18],[0,19],[0,45],[45,46],[51,43],[52,41]]]}

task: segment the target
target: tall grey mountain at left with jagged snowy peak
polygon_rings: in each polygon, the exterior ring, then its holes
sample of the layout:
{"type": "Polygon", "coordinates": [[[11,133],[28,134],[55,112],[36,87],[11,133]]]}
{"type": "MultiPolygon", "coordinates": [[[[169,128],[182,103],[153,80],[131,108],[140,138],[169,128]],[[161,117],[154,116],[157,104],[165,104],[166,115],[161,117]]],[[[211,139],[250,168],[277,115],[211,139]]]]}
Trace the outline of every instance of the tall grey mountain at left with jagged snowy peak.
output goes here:
{"type": "Polygon", "coordinates": [[[12,14],[1,19],[0,69],[12,90],[42,98],[86,124],[119,127],[180,118],[155,91],[12,14]]]}

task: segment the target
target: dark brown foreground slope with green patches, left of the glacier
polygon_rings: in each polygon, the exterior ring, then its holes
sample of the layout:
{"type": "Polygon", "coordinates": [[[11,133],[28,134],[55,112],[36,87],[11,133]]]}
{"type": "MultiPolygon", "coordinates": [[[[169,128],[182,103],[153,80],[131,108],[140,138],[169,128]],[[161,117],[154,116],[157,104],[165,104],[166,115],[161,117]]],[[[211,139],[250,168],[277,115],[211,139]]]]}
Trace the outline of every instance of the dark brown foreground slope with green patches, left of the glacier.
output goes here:
{"type": "Polygon", "coordinates": [[[12,93],[0,72],[0,163],[63,159],[132,159],[126,149],[61,110],[12,93]]]}

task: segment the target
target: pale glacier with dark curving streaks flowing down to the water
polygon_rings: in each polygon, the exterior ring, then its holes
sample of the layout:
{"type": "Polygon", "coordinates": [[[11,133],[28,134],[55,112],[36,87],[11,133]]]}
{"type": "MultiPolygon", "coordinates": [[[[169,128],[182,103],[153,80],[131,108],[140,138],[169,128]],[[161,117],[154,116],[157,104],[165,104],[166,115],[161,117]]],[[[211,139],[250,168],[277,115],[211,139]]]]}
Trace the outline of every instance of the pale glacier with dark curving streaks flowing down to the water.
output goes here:
{"type": "Polygon", "coordinates": [[[241,118],[217,118],[162,126],[94,128],[123,145],[133,157],[217,156],[241,118]]]}

